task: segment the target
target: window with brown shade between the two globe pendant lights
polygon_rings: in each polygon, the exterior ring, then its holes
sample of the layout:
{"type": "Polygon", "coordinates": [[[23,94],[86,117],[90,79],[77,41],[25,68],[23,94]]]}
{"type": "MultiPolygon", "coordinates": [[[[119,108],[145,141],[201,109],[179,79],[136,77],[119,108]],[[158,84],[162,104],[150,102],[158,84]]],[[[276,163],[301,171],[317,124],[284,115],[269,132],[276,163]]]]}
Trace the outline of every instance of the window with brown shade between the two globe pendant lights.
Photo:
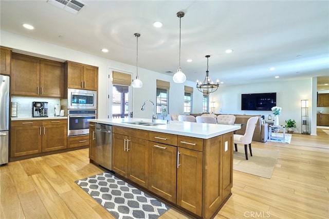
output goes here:
{"type": "Polygon", "coordinates": [[[170,82],[156,80],[156,113],[160,114],[161,109],[166,109],[167,114],[169,113],[169,88],[170,82]]]}

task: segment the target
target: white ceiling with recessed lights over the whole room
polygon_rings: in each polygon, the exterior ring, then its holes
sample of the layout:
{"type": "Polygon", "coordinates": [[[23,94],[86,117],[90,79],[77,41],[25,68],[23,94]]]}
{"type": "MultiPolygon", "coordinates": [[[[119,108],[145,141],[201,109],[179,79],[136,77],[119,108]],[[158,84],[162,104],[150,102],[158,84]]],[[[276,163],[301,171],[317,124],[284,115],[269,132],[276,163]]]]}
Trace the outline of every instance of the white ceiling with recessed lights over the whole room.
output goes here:
{"type": "Polygon", "coordinates": [[[210,77],[223,85],[318,76],[328,83],[328,1],[81,2],[85,6],[73,14],[47,0],[0,1],[0,27],[131,65],[136,65],[137,32],[138,66],[173,75],[166,71],[176,72],[179,65],[176,13],[183,11],[180,62],[187,80],[204,80],[209,54],[210,77]],[[154,21],[163,26],[155,28],[154,21]]]}

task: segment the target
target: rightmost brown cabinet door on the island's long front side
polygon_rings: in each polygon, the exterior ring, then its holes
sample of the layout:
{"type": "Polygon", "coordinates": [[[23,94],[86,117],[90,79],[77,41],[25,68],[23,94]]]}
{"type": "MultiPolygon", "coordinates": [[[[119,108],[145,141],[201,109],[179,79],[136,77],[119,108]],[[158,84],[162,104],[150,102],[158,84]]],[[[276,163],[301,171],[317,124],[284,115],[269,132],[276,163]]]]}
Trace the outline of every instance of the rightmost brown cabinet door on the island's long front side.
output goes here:
{"type": "Polygon", "coordinates": [[[203,153],[178,148],[177,205],[202,215],[203,153]]]}

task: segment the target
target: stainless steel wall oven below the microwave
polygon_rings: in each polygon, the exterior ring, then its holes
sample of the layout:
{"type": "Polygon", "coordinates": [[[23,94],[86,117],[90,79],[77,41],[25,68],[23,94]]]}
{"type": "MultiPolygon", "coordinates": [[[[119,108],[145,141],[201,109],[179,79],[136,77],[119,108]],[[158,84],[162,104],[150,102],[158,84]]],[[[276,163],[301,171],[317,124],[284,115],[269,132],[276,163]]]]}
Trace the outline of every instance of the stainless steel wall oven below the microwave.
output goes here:
{"type": "Polygon", "coordinates": [[[67,135],[89,134],[88,119],[96,119],[96,109],[68,109],[67,135]]]}

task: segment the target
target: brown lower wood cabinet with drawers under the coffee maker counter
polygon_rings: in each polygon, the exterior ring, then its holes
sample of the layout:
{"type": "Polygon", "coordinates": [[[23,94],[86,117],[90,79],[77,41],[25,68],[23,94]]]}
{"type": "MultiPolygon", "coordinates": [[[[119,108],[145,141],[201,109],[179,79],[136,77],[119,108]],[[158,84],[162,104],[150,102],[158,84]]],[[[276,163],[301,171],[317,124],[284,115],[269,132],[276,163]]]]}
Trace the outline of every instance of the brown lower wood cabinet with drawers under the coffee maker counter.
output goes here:
{"type": "Polygon", "coordinates": [[[10,156],[66,149],[66,137],[66,119],[12,121],[10,156]]]}

